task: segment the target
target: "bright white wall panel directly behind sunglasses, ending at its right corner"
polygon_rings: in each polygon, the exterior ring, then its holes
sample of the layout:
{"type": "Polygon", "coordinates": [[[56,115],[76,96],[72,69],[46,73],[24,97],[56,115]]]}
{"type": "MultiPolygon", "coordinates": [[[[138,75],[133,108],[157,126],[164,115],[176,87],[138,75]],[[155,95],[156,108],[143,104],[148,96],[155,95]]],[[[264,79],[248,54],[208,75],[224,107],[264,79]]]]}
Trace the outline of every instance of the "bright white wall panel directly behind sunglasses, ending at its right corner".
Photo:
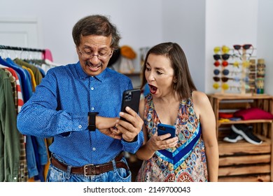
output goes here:
{"type": "Polygon", "coordinates": [[[232,45],[235,44],[251,43],[256,48],[257,16],[258,0],[207,0],[206,92],[216,92],[212,87],[215,69],[214,47],[227,45],[233,48],[232,45]]]}

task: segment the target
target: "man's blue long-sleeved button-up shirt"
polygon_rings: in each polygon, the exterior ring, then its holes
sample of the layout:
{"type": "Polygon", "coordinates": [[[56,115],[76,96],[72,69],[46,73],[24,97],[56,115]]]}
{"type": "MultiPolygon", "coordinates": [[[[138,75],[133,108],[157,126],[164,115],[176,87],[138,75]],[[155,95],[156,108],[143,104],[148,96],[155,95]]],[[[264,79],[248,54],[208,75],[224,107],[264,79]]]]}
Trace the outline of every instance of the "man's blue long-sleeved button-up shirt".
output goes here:
{"type": "Polygon", "coordinates": [[[119,116],[123,91],[132,89],[130,78],[112,69],[88,76],[77,64],[48,70],[18,114],[18,130],[36,137],[54,137],[50,152],[67,164],[82,166],[109,162],[120,153],[135,153],[143,142],[113,139],[99,130],[87,130],[90,111],[119,116]]]}

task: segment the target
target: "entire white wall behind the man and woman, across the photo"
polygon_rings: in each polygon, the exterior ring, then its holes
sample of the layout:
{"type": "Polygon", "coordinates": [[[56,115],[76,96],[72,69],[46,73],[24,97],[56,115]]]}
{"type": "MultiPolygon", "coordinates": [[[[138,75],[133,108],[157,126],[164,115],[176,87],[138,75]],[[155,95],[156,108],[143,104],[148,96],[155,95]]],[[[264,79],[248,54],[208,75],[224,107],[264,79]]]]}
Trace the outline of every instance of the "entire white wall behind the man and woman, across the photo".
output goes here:
{"type": "MultiPolygon", "coordinates": [[[[0,0],[0,18],[36,18],[39,48],[49,48],[54,61],[76,62],[73,25],[94,13],[111,16],[121,45],[139,48],[162,41],[181,44],[199,90],[212,87],[216,45],[252,43],[266,63],[265,93],[273,94],[272,0],[0,0]],[[15,6],[16,5],[16,6],[15,6]]],[[[1,45],[1,43],[0,43],[1,45]]],[[[139,66],[139,57],[134,61],[139,66]]],[[[139,69],[139,67],[137,67],[139,69]]]]}

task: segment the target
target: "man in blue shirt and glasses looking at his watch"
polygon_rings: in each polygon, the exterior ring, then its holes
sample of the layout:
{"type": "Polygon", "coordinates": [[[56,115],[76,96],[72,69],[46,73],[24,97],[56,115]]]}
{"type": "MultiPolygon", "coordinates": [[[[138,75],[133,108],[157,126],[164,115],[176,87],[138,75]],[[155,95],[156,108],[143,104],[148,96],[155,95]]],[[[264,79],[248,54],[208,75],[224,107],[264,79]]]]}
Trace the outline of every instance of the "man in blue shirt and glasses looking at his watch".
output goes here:
{"type": "Polygon", "coordinates": [[[78,63],[48,70],[18,114],[18,130],[54,137],[47,181],[131,181],[123,151],[135,153],[141,146],[143,120],[130,108],[120,113],[123,91],[132,82],[107,68],[118,30],[105,16],[90,15],[72,35],[78,63]]]}

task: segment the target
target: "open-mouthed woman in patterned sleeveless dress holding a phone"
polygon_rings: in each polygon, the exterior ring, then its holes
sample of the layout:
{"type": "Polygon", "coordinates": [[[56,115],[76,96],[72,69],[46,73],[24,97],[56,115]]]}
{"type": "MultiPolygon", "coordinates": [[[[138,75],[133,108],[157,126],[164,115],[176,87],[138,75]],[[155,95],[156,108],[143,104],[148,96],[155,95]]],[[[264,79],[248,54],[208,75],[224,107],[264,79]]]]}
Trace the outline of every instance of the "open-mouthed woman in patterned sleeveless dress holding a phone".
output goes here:
{"type": "Polygon", "coordinates": [[[218,143],[214,111],[206,94],[198,92],[186,55],[177,43],[151,48],[144,62],[142,86],[150,93],[141,99],[144,160],[137,181],[217,181],[218,143]],[[176,137],[158,136],[158,123],[174,125],[176,137]]]}

